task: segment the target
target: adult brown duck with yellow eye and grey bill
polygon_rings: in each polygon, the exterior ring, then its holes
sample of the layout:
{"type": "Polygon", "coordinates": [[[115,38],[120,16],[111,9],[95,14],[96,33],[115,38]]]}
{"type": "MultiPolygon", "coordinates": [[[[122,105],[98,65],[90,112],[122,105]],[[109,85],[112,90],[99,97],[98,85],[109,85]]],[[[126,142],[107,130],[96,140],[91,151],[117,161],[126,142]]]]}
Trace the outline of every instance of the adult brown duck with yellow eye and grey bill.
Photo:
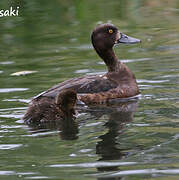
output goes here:
{"type": "Polygon", "coordinates": [[[140,94],[133,72],[122,63],[113,48],[119,44],[135,44],[141,40],[130,37],[111,24],[95,27],[91,34],[94,50],[107,66],[107,72],[101,75],[86,75],[66,80],[40,93],[32,103],[43,98],[55,99],[63,89],[72,88],[77,92],[78,102],[84,104],[108,103],[111,99],[129,98],[140,94]]]}

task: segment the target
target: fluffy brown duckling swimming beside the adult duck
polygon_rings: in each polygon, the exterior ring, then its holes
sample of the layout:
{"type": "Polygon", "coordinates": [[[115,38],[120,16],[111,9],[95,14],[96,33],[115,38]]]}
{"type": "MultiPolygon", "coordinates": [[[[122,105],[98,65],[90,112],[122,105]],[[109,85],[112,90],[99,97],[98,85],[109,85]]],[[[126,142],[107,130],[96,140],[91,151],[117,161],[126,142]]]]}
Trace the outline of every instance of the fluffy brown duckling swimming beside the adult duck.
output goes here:
{"type": "Polygon", "coordinates": [[[60,91],[55,100],[45,97],[29,104],[23,117],[26,124],[67,123],[75,119],[77,94],[73,89],[60,91]]]}

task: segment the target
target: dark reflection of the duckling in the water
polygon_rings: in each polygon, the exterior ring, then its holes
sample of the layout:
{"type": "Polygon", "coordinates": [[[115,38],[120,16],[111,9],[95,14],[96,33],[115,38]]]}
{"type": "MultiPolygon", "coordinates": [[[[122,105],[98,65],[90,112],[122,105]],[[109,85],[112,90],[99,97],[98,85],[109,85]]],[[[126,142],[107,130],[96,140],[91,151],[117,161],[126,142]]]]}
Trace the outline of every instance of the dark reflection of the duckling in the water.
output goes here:
{"type": "Polygon", "coordinates": [[[44,123],[28,124],[32,133],[48,132],[58,130],[62,140],[75,140],[78,138],[78,123],[74,119],[63,119],[62,121],[49,121],[44,123]]]}

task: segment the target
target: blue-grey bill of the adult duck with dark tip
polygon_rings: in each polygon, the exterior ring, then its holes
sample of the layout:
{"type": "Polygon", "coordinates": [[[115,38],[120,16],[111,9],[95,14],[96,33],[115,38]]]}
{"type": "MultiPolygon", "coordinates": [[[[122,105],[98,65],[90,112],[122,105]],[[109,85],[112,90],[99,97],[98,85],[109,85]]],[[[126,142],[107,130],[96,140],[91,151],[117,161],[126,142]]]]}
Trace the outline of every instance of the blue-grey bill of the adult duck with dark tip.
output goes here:
{"type": "Polygon", "coordinates": [[[133,38],[133,37],[130,37],[130,36],[127,36],[121,32],[118,32],[118,35],[117,35],[117,40],[115,42],[115,44],[120,44],[120,43],[123,43],[123,44],[136,44],[136,43],[140,43],[141,40],[140,39],[136,39],[136,38],[133,38]]]}

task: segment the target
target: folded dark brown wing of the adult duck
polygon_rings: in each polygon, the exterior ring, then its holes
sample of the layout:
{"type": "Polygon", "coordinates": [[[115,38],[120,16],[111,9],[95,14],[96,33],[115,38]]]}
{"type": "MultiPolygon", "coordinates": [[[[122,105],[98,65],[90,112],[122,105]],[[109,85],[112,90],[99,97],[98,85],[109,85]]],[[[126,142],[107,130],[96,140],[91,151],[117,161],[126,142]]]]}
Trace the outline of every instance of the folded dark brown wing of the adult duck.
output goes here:
{"type": "Polygon", "coordinates": [[[106,75],[83,76],[59,83],[35,96],[33,99],[38,99],[40,97],[55,98],[59,91],[69,88],[74,89],[77,93],[87,94],[105,92],[116,87],[117,83],[108,79],[106,75]]]}

